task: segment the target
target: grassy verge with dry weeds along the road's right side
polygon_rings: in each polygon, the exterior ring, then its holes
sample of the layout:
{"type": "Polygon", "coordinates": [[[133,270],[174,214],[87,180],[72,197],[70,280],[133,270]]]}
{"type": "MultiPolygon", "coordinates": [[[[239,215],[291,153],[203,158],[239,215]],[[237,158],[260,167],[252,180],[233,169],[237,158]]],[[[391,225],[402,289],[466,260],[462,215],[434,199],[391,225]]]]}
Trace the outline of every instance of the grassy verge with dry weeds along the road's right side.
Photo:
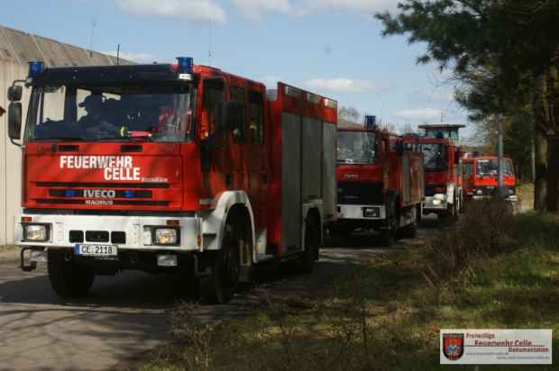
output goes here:
{"type": "Polygon", "coordinates": [[[312,300],[262,292],[261,312],[206,325],[185,305],[178,343],[142,370],[444,369],[443,328],[553,329],[556,343],[559,218],[502,207],[481,203],[455,231],[367,262],[312,300]]]}

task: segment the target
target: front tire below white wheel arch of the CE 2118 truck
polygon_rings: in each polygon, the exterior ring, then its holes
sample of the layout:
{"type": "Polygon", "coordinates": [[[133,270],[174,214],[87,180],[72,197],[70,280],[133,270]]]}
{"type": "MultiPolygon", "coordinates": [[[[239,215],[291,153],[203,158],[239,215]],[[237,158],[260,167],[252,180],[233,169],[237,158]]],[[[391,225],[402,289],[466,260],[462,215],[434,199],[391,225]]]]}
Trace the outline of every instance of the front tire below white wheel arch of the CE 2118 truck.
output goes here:
{"type": "Polygon", "coordinates": [[[210,274],[200,279],[200,291],[205,303],[229,303],[239,287],[241,276],[241,237],[227,231],[222,249],[215,251],[210,261],[210,274]]]}

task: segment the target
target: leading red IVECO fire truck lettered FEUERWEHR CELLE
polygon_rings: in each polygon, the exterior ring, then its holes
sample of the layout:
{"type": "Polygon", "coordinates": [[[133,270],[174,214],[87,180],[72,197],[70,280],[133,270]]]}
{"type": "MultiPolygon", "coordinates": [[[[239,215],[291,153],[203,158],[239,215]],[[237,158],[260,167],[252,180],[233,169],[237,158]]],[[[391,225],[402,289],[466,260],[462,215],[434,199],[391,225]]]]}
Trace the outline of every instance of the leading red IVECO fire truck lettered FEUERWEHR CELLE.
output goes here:
{"type": "MultiPolygon", "coordinates": [[[[310,271],[336,214],[337,103],[190,58],[175,65],[45,68],[9,89],[23,137],[22,268],[47,261],[60,296],[96,275],[180,272],[225,303],[252,267],[310,271]]],[[[19,143],[17,143],[19,144],[19,143]]]]}

